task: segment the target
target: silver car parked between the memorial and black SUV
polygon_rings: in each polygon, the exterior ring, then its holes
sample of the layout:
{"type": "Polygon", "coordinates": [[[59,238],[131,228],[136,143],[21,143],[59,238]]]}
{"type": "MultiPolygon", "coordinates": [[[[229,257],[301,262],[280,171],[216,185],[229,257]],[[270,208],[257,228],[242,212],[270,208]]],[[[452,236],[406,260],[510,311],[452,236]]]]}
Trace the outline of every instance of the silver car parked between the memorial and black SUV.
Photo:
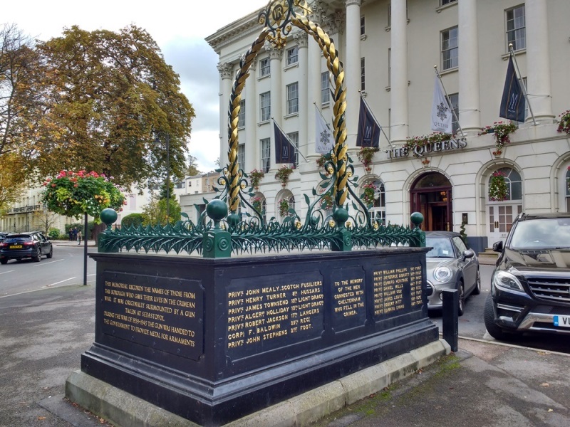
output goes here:
{"type": "Polygon", "coordinates": [[[452,231],[426,231],[425,246],[431,250],[425,254],[427,296],[429,310],[441,310],[442,290],[457,289],[461,316],[465,312],[465,300],[469,295],[481,292],[481,275],[477,254],[468,248],[460,233],[452,231]]]}

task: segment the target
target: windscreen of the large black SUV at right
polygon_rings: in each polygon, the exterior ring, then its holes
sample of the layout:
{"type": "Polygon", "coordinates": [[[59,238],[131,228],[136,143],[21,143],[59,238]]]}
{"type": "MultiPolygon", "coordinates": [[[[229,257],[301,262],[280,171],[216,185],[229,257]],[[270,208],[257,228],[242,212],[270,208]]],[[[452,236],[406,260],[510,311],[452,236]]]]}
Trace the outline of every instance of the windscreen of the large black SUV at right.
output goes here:
{"type": "Polygon", "coordinates": [[[512,232],[511,248],[569,248],[570,221],[541,218],[520,221],[512,232]]]}

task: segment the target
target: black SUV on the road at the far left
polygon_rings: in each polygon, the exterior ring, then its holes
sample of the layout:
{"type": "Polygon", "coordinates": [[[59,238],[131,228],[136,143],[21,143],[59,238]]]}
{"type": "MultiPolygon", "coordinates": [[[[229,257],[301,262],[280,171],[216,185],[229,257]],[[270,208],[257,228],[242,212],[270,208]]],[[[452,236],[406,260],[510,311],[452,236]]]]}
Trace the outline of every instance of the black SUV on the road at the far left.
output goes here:
{"type": "Polygon", "coordinates": [[[53,256],[51,241],[39,231],[30,233],[10,233],[0,243],[0,264],[8,263],[8,260],[21,260],[31,258],[39,262],[41,256],[47,258],[53,256]]]}

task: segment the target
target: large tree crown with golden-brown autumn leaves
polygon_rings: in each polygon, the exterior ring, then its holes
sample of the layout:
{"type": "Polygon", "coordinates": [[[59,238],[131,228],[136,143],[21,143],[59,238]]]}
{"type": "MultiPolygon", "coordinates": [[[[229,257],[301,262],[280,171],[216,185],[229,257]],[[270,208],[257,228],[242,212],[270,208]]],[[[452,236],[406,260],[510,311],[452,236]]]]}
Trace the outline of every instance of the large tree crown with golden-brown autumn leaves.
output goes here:
{"type": "Polygon", "coordinates": [[[47,106],[30,131],[40,176],[96,170],[141,188],[156,170],[165,174],[169,154],[171,174],[184,176],[195,113],[180,92],[179,76],[146,31],[73,26],[36,49],[36,89],[47,106]],[[156,132],[169,135],[169,153],[155,143],[156,132]]]}

